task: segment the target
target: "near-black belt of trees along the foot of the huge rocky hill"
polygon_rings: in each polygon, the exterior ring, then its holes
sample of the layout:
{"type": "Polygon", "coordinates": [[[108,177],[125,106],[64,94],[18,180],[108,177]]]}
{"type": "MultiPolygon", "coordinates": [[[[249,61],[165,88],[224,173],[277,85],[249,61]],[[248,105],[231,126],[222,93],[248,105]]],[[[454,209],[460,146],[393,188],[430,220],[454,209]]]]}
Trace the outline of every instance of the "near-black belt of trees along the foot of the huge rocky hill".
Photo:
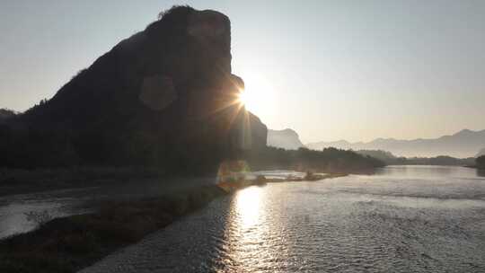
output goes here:
{"type": "Polygon", "coordinates": [[[159,137],[140,130],[67,131],[0,124],[0,167],[139,166],[171,174],[198,174],[216,172],[224,158],[221,147],[206,137],[198,138],[197,144],[183,139],[167,143],[159,137]],[[205,153],[207,150],[214,153],[205,153]]]}

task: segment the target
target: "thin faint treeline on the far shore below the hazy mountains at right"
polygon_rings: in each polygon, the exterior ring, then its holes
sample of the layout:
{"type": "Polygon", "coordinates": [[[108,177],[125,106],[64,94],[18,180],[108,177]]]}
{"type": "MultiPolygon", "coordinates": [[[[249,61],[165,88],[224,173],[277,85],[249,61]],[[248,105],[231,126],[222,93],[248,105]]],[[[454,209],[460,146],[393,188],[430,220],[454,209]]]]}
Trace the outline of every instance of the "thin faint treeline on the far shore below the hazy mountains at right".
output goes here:
{"type": "Polygon", "coordinates": [[[357,154],[375,157],[388,165],[444,165],[466,166],[474,163],[474,158],[455,158],[447,155],[435,157],[398,157],[383,150],[359,150],[357,154]]]}

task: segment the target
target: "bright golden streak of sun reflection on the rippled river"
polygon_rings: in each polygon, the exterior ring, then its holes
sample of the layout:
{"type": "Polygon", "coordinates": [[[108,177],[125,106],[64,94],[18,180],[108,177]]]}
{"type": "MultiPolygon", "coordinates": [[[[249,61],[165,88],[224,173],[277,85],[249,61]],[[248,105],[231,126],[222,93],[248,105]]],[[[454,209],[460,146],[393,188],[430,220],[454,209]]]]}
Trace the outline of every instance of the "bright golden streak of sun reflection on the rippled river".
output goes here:
{"type": "Polygon", "coordinates": [[[268,198],[266,187],[235,192],[220,247],[225,250],[220,272],[272,272],[276,262],[291,262],[279,217],[271,215],[268,198]]]}

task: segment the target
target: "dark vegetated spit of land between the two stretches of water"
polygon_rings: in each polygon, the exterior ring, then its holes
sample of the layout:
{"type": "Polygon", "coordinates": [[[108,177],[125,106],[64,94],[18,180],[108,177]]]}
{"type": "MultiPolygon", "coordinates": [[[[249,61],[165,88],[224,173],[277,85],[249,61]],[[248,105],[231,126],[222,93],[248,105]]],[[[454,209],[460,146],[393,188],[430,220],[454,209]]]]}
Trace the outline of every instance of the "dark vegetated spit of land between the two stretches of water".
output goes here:
{"type": "Polygon", "coordinates": [[[47,223],[42,213],[32,216],[40,221],[39,229],[0,241],[0,272],[75,272],[224,194],[206,186],[162,198],[104,203],[97,213],[47,223]]]}

